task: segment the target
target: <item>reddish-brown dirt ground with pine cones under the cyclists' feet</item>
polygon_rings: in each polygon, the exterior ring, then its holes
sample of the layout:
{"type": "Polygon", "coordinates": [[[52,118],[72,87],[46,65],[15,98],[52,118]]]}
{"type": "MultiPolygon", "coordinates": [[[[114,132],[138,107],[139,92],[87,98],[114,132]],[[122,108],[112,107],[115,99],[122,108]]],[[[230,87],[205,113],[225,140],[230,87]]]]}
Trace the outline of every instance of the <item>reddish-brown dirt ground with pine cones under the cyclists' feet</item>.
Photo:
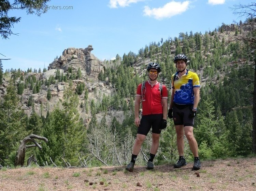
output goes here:
{"type": "Polygon", "coordinates": [[[155,166],[154,170],[135,166],[97,168],[17,168],[0,170],[1,191],[178,191],[227,190],[256,191],[256,158],[202,161],[202,168],[192,171],[193,163],[180,169],[155,166]]]}

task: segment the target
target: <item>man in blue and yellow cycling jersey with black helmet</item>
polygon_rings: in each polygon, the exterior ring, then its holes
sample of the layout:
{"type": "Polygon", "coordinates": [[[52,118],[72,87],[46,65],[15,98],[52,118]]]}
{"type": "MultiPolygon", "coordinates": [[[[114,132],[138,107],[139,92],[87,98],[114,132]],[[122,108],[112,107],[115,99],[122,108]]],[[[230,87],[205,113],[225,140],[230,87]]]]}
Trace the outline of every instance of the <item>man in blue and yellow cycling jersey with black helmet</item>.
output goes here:
{"type": "Polygon", "coordinates": [[[186,69],[187,60],[188,58],[184,54],[178,54],[174,57],[174,63],[178,71],[172,75],[172,94],[168,117],[173,118],[180,156],[177,163],[174,164],[174,168],[180,168],[187,164],[184,158],[185,134],[195,157],[193,170],[198,170],[201,168],[201,163],[198,157],[197,141],[193,134],[193,126],[200,96],[200,83],[198,75],[186,69]]]}

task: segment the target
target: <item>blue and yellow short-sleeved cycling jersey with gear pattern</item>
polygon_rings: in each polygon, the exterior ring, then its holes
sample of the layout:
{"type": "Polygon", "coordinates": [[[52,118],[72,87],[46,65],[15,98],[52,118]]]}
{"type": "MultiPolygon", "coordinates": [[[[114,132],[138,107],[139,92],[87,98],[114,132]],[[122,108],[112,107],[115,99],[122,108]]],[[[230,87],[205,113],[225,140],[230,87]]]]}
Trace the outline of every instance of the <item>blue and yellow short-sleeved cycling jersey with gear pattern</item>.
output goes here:
{"type": "Polygon", "coordinates": [[[194,104],[195,95],[193,88],[200,87],[198,75],[189,70],[181,78],[178,74],[179,72],[176,72],[172,75],[173,102],[176,104],[194,104]]]}

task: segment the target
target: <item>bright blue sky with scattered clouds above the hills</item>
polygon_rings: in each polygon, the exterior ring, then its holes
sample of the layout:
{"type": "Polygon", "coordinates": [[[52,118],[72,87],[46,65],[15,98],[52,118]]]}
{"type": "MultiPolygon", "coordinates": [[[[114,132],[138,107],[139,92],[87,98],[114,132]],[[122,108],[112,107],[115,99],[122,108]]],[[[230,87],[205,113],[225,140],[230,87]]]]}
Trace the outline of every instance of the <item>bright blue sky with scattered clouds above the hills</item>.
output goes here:
{"type": "MultiPolygon", "coordinates": [[[[11,1],[12,2],[12,1],[11,1]]],[[[86,48],[101,60],[138,53],[150,42],[178,37],[180,32],[205,33],[222,23],[244,21],[230,7],[251,0],[51,0],[41,17],[10,10],[22,17],[9,39],[0,39],[3,70],[41,70],[69,47],[86,48]],[[65,8],[65,9],[64,9],[65,8]]]]}

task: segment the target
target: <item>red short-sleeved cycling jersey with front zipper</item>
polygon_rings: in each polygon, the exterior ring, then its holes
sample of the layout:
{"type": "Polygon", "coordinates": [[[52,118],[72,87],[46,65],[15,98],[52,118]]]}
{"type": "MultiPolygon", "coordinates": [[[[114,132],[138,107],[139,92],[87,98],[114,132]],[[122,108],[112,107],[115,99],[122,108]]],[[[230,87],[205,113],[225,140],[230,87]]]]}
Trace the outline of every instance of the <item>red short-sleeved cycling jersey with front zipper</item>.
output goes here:
{"type": "Polygon", "coordinates": [[[162,97],[159,89],[160,83],[157,82],[153,87],[150,82],[147,81],[145,83],[145,88],[143,89],[141,95],[141,86],[140,84],[137,88],[136,96],[142,96],[142,115],[150,115],[150,114],[162,114],[162,99],[168,99],[168,93],[166,86],[162,86],[162,97]]]}

